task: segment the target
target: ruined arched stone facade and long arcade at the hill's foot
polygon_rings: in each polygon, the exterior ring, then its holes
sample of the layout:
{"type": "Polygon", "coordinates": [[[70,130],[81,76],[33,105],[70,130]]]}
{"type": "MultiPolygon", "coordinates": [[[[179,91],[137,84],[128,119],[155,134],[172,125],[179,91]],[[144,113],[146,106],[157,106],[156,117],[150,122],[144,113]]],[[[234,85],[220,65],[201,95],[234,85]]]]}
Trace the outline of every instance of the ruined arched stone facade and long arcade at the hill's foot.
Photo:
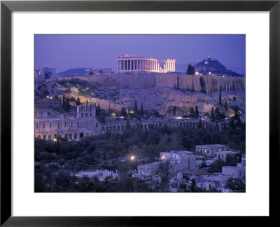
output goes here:
{"type": "MultiPolygon", "coordinates": [[[[99,123],[95,116],[95,106],[80,105],[77,106],[76,115],[61,114],[60,116],[52,116],[46,110],[37,109],[35,114],[34,136],[38,139],[52,139],[57,137],[71,140],[80,140],[88,135],[98,135],[110,132],[123,132],[127,128],[141,128],[148,130],[149,128],[162,128],[165,125],[168,127],[199,127],[200,120],[197,119],[176,119],[176,118],[113,118],[107,117],[105,123],[99,123]]],[[[229,122],[220,123],[211,121],[202,121],[202,128],[207,127],[228,127],[229,122]]]]}

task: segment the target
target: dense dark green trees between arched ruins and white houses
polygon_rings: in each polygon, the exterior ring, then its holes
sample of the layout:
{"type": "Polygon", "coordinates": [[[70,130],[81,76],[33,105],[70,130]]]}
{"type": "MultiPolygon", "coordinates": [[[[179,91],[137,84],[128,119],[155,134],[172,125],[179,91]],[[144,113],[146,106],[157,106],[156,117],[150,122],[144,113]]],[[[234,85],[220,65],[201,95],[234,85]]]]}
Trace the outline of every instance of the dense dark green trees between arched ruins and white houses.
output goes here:
{"type": "MultiPolygon", "coordinates": [[[[151,163],[159,158],[161,151],[194,151],[199,144],[226,144],[232,149],[245,151],[245,125],[239,123],[235,129],[225,128],[131,128],[123,133],[106,132],[88,136],[79,142],[57,142],[35,139],[35,191],[167,191],[167,167],[162,166],[161,183],[152,186],[134,179],[128,171],[137,165],[151,163]],[[137,160],[121,162],[120,157],[133,154],[137,160]],[[106,169],[120,173],[118,179],[82,179],[76,184],[70,172],[106,169]],[[124,183],[125,182],[125,183],[124,183]]],[[[227,160],[234,165],[235,160],[227,160]]],[[[217,167],[220,168],[220,166],[217,167]]]]}

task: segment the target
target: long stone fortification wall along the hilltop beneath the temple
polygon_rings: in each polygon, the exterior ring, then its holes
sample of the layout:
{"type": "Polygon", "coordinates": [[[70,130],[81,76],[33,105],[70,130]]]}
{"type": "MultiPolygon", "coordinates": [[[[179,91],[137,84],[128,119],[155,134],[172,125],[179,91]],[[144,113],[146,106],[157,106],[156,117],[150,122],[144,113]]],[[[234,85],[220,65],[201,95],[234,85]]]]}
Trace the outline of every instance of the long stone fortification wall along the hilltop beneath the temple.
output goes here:
{"type": "MultiPolygon", "coordinates": [[[[75,76],[80,81],[104,88],[149,89],[155,86],[213,93],[220,90],[246,90],[246,78],[230,76],[190,76],[177,74],[116,74],[75,76]]],[[[69,79],[69,78],[65,78],[69,79]]]]}

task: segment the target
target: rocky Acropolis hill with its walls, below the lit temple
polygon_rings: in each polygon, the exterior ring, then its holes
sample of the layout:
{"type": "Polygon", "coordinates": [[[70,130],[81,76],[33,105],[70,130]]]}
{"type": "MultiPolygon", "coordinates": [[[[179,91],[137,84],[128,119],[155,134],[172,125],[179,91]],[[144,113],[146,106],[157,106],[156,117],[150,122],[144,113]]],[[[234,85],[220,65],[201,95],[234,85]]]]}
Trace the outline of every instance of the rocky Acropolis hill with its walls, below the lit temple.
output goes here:
{"type": "MultiPolygon", "coordinates": [[[[218,105],[219,89],[223,102],[245,110],[245,78],[230,76],[189,76],[179,74],[113,74],[111,76],[74,76],[55,78],[35,84],[36,106],[53,109],[41,104],[39,98],[45,90],[52,97],[80,98],[82,103],[99,103],[102,109],[120,111],[133,108],[134,101],[144,109],[160,114],[172,114],[174,106],[179,114],[188,113],[197,105],[200,113],[211,111],[218,105]],[[236,97],[236,101],[230,101],[236,97]]],[[[55,106],[55,104],[52,104],[55,106]]]]}

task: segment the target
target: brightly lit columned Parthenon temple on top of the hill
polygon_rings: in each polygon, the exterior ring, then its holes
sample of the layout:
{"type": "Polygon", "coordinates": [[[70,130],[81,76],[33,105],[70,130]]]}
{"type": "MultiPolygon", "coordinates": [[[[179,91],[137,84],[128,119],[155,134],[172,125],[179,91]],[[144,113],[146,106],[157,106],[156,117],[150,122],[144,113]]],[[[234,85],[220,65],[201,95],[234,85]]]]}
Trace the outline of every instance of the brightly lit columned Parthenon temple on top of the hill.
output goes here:
{"type": "Polygon", "coordinates": [[[175,71],[176,59],[157,60],[153,57],[143,57],[125,54],[117,57],[118,72],[157,72],[167,73],[175,71]]]}

